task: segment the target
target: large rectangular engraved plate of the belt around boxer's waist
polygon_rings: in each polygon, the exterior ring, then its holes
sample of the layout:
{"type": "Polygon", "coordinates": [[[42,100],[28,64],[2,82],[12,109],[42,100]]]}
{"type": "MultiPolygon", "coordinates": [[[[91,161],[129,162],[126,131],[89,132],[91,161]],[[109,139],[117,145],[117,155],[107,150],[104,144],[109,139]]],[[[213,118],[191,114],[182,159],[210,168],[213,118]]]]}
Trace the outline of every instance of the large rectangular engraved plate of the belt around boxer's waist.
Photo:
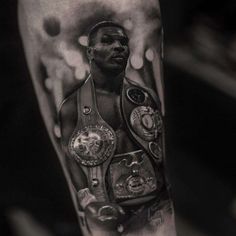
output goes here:
{"type": "Polygon", "coordinates": [[[143,151],[128,153],[111,164],[111,186],[116,200],[146,196],[160,188],[154,168],[143,151]],[[121,159],[121,160],[120,160],[121,159]]]}

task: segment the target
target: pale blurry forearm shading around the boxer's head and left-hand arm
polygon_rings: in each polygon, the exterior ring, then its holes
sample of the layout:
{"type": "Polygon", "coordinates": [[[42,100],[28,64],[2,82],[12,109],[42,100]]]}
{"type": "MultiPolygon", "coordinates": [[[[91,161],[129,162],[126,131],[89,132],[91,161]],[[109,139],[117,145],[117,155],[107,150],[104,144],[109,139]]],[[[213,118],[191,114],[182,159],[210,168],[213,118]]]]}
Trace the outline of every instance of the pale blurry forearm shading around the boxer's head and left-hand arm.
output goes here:
{"type": "MultiPolygon", "coordinates": [[[[92,26],[111,20],[126,29],[130,59],[126,76],[161,88],[161,22],[156,0],[21,0],[20,29],[40,110],[72,198],[73,184],[59,145],[57,112],[67,94],[89,73],[86,36],[92,26]]],[[[160,95],[160,93],[159,93],[160,95]]],[[[162,96],[160,96],[162,100],[162,96]]]]}

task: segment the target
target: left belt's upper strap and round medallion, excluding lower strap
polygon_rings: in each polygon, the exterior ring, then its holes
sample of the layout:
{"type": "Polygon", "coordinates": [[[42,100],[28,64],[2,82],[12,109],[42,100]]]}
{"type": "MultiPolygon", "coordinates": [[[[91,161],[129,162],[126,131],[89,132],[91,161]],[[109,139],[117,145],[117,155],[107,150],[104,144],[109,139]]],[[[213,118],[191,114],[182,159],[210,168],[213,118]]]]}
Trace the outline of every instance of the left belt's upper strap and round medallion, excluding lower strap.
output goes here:
{"type": "Polygon", "coordinates": [[[88,78],[83,87],[77,97],[77,127],[68,147],[81,165],[93,167],[113,156],[116,137],[113,129],[99,115],[92,79],[88,78]]]}

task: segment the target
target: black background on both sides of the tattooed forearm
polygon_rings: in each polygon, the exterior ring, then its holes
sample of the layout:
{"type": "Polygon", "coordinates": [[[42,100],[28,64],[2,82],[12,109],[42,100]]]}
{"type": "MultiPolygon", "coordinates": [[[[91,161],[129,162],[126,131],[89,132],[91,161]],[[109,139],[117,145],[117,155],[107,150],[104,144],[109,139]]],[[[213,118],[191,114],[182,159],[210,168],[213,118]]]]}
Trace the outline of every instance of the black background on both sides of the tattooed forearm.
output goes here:
{"type": "MultiPolygon", "coordinates": [[[[202,19],[210,19],[207,27],[222,39],[218,42],[222,55],[215,51],[214,60],[205,60],[206,55],[204,60],[225,73],[232,70],[235,80],[235,61],[225,57],[228,45],[235,41],[236,4],[234,0],[162,0],[161,8],[166,42],[167,162],[178,232],[180,236],[235,236],[236,96],[207,83],[204,72],[199,76],[184,64],[173,63],[168,49],[187,50],[202,61],[198,47],[192,44],[191,30],[202,19]]],[[[18,218],[26,215],[52,235],[77,235],[70,195],[27,69],[16,1],[1,1],[0,11],[0,235],[15,235],[13,226],[24,223],[18,218]]]]}

